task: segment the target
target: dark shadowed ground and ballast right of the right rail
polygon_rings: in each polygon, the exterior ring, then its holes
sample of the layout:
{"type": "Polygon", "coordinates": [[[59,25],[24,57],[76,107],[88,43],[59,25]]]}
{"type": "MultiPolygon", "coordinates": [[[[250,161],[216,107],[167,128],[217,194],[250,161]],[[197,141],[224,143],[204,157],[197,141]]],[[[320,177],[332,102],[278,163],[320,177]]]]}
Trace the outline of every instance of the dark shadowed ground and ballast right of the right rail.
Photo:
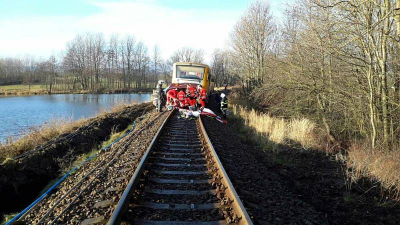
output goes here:
{"type": "Polygon", "coordinates": [[[342,154],[305,148],[301,141],[284,144],[267,140],[239,115],[229,116],[228,124],[209,119],[204,119],[204,123],[240,199],[256,223],[400,221],[398,202],[390,198],[379,182],[355,178],[342,154]]]}

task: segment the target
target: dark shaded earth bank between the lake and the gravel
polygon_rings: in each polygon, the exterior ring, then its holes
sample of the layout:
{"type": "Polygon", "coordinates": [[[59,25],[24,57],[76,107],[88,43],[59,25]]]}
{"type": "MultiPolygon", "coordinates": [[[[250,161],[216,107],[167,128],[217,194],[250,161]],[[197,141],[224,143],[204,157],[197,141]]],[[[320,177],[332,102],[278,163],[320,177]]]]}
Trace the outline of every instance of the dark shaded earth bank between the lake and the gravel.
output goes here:
{"type": "Polygon", "coordinates": [[[150,103],[142,103],[108,113],[104,117],[93,119],[89,128],[81,127],[82,132],[72,138],[63,138],[69,135],[65,133],[50,140],[49,142],[53,142],[50,145],[44,143],[46,147],[38,151],[15,160],[6,160],[0,165],[0,212],[19,211],[26,207],[50,180],[70,167],[79,155],[91,151],[109,137],[112,130],[125,129],[135,118],[152,108],[150,103]]]}

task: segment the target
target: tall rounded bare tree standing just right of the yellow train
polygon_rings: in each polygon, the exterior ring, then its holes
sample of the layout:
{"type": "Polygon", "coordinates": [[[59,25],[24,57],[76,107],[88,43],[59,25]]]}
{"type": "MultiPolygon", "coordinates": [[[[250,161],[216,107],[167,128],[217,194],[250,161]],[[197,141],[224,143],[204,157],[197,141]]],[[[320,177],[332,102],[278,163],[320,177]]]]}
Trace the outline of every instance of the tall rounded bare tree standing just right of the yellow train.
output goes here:
{"type": "Polygon", "coordinates": [[[240,17],[229,38],[229,52],[247,87],[259,86],[267,77],[270,43],[275,30],[267,1],[254,1],[240,17]]]}

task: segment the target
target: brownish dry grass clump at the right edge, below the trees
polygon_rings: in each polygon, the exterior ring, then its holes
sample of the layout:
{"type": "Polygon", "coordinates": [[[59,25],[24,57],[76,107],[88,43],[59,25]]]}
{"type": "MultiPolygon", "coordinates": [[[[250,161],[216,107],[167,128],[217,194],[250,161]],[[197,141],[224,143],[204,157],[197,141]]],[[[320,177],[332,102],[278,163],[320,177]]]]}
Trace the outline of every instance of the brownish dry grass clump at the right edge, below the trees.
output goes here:
{"type": "Polygon", "coordinates": [[[355,143],[347,156],[347,166],[355,170],[356,177],[369,177],[400,200],[400,147],[387,151],[372,151],[367,144],[355,143]]]}

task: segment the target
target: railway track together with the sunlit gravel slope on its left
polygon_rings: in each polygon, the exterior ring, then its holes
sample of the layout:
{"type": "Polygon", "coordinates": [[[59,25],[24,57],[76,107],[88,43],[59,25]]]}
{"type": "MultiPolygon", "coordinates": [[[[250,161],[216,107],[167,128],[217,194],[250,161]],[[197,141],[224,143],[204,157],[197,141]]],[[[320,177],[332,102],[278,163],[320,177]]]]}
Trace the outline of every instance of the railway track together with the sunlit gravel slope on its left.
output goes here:
{"type": "Polygon", "coordinates": [[[252,224],[201,119],[163,115],[148,117],[18,224],[252,224]]]}

